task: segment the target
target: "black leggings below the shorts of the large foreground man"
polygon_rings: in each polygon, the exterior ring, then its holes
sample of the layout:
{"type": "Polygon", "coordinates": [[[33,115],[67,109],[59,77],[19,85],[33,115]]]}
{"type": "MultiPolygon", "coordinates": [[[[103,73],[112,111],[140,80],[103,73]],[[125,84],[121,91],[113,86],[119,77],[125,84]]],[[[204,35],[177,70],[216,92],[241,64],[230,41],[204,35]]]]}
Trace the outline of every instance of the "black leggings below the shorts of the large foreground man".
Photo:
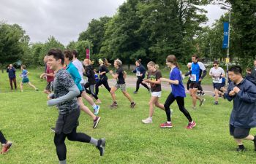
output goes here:
{"type": "Polygon", "coordinates": [[[55,133],[54,144],[56,146],[56,152],[60,161],[66,160],[66,154],[67,154],[67,148],[65,144],[66,137],[69,139],[69,141],[80,141],[80,142],[86,142],[86,143],[89,143],[91,141],[90,136],[87,136],[85,133],[77,133],[76,130],[77,128],[74,128],[72,132],[68,134],[55,133]]]}

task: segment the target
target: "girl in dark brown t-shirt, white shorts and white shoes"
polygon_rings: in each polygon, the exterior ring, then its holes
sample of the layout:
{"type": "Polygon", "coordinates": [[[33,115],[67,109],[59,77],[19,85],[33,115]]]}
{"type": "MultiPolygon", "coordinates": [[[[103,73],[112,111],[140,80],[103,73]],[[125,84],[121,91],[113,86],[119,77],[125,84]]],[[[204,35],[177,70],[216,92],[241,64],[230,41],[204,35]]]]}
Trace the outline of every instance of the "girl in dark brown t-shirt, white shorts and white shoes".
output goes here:
{"type": "Polygon", "coordinates": [[[156,64],[153,61],[150,61],[147,64],[148,67],[148,77],[144,79],[143,82],[147,82],[151,86],[151,99],[149,101],[149,114],[148,118],[142,120],[143,123],[149,124],[153,122],[154,106],[157,106],[159,109],[165,110],[165,106],[159,103],[159,98],[161,97],[161,81],[160,78],[162,74],[156,69],[156,64]]]}

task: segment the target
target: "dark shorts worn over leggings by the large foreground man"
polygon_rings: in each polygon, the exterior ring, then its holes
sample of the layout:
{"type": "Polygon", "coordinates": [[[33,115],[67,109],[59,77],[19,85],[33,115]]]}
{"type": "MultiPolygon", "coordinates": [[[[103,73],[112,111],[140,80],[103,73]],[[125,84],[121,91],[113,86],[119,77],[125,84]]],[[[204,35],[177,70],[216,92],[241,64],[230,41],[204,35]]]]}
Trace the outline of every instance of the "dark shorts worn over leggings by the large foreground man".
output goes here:
{"type": "Polygon", "coordinates": [[[55,133],[71,133],[72,130],[78,127],[78,118],[80,116],[80,109],[74,109],[68,114],[59,114],[55,125],[55,133]]]}

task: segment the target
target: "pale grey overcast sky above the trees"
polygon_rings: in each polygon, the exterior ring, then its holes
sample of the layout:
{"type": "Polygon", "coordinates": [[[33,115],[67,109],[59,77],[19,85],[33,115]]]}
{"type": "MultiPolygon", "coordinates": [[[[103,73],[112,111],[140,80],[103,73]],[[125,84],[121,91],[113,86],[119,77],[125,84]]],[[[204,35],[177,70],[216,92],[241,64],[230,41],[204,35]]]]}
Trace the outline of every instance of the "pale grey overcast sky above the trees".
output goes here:
{"type": "MultiPolygon", "coordinates": [[[[77,41],[92,18],[112,16],[125,0],[0,0],[0,20],[22,26],[31,42],[45,42],[54,36],[67,45],[77,41]]],[[[225,12],[217,5],[204,7],[208,25],[225,12]]]]}

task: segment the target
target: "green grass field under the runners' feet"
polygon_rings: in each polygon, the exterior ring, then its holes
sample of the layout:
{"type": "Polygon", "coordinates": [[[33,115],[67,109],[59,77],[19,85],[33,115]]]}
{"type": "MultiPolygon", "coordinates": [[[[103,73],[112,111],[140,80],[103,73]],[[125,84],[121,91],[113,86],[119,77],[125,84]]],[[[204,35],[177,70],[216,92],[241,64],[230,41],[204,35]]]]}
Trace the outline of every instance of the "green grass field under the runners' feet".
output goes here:
{"type": "MultiPolygon", "coordinates": [[[[23,93],[0,93],[0,129],[13,141],[10,152],[0,155],[3,164],[59,161],[53,144],[54,133],[50,130],[58,112],[55,107],[46,106],[47,98],[42,93],[45,82],[39,79],[42,70],[29,71],[29,79],[39,92],[24,87],[23,93]]],[[[0,92],[10,91],[7,80],[7,74],[0,73],[0,92]]],[[[187,120],[174,103],[171,106],[174,127],[161,129],[159,124],[165,122],[166,117],[159,109],[155,110],[153,124],[141,123],[148,117],[149,93],[143,88],[137,95],[132,94],[132,88],[128,91],[138,104],[135,110],[129,109],[129,101],[120,90],[116,93],[119,107],[110,109],[110,94],[100,88],[102,120],[96,129],[91,128],[88,115],[80,114],[78,131],[94,138],[106,138],[105,156],[99,157],[99,151],[91,144],[66,140],[68,163],[255,163],[252,141],[244,141],[246,152],[235,151],[236,144],[228,130],[232,103],[220,100],[219,106],[213,106],[214,99],[206,96],[206,104],[194,111],[191,98],[187,97],[186,107],[197,126],[192,130],[184,128],[187,120]]],[[[163,91],[162,103],[167,95],[168,92],[163,91]]],[[[251,133],[255,134],[256,130],[252,129],[251,133]]]]}

